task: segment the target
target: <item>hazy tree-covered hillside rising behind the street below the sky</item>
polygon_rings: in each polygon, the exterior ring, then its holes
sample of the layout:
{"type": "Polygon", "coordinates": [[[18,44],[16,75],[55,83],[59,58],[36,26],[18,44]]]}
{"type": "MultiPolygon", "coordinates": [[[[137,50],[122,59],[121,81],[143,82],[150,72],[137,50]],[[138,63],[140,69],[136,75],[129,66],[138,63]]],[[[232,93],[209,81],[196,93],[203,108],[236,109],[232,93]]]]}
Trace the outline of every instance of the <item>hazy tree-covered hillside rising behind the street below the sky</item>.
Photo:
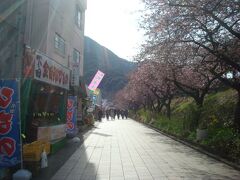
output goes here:
{"type": "Polygon", "coordinates": [[[89,84],[99,69],[105,73],[100,84],[103,98],[112,96],[127,83],[127,75],[135,64],[119,58],[106,47],[101,46],[89,37],[84,38],[84,78],[89,84]]]}

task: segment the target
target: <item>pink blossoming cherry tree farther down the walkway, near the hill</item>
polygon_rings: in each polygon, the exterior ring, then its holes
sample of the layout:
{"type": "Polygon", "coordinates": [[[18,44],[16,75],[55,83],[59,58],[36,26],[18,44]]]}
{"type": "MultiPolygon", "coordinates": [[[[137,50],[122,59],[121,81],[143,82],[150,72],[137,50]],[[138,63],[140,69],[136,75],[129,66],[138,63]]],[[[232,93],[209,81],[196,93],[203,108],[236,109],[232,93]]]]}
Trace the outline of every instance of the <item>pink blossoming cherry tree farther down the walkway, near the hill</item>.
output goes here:
{"type": "Polygon", "coordinates": [[[168,67],[159,62],[141,63],[130,75],[130,81],[124,88],[125,94],[128,94],[125,96],[155,111],[161,111],[165,106],[170,118],[170,105],[176,87],[172,81],[167,80],[168,73],[168,67]]]}

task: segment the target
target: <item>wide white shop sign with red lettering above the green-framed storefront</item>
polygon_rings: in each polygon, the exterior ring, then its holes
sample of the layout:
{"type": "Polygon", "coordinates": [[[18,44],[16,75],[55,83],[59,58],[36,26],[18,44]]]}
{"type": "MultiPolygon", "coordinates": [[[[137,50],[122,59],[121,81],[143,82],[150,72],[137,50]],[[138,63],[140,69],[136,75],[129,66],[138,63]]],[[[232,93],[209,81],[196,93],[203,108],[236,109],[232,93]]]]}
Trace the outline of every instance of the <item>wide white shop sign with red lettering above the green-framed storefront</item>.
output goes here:
{"type": "Polygon", "coordinates": [[[36,53],[34,79],[69,89],[70,70],[47,56],[36,53]]]}

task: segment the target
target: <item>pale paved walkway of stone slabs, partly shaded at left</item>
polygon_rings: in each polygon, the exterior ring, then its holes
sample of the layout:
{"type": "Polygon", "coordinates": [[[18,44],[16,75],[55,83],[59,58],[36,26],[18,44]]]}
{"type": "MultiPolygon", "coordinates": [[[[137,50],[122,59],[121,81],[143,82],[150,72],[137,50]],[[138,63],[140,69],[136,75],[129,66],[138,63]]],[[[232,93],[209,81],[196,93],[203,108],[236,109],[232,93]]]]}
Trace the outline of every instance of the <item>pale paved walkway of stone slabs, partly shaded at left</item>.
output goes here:
{"type": "Polygon", "coordinates": [[[240,172],[133,120],[103,120],[52,180],[240,179],[240,172]]]}

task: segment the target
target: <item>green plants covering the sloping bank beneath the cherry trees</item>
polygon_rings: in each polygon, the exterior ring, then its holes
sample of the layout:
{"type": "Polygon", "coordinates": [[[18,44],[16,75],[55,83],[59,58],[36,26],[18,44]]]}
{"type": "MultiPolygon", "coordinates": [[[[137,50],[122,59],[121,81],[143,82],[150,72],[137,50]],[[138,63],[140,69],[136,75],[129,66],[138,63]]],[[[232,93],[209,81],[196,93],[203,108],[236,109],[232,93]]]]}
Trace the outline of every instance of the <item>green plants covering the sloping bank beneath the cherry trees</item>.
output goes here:
{"type": "Polygon", "coordinates": [[[198,143],[224,157],[239,161],[240,134],[230,128],[235,105],[236,92],[227,90],[206,96],[201,109],[196,106],[192,98],[174,99],[170,120],[161,113],[153,114],[143,109],[138,111],[138,115],[145,123],[149,123],[154,117],[152,123],[154,127],[192,142],[196,142],[197,127],[207,128],[208,138],[198,143]]]}

